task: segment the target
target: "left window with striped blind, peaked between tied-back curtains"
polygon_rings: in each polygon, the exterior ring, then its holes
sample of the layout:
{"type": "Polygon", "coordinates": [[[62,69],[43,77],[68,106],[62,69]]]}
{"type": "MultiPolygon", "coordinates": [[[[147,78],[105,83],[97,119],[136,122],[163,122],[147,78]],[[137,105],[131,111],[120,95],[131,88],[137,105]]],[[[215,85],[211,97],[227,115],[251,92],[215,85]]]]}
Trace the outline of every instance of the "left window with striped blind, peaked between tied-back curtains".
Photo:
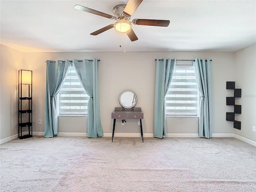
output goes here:
{"type": "Polygon", "coordinates": [[[59,114],[87,115],[89,96],[72,65],[58,95],[59,114]]]}

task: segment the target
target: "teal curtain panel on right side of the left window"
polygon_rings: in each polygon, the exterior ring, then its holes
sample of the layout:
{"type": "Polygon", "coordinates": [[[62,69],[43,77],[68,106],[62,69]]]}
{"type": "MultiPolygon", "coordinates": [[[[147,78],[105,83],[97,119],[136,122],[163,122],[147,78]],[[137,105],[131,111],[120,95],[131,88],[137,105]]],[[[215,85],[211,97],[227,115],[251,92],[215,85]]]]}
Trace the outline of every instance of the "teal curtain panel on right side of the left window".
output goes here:
{"type": "Polygon", "coordinates": [[[87,136],[103,136],[102,124],[100,120],[100,101],[98,89],[98,60],[74,60],[73,66],[78,74],[80,82],[87,94],[90,96],[88,101],[87,114],[87,136]]]}

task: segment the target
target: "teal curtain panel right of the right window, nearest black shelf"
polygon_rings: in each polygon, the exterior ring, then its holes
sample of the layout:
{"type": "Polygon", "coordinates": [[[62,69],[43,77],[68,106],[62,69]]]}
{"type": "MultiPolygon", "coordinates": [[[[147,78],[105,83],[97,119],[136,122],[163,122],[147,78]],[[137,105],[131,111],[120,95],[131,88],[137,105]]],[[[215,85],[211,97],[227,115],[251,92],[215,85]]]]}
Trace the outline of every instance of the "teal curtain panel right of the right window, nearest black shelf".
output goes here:
{"type": "Polygon", "coordinates": [[[193,62],[198,84],[199,99],[199,136],[212,137],[212,100],[210,60],[196,58],[193,62]]]}

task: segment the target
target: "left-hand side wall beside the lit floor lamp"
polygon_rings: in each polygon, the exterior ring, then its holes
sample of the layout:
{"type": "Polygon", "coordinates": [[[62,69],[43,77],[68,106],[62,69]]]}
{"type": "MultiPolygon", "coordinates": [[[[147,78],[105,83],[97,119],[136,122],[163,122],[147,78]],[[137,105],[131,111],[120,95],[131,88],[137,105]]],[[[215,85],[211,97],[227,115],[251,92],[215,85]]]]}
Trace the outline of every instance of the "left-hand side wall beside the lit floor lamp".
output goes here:
{"type": "MultiPolygon", "coordinates": [[[[18,70],[23,68],[23,53],[0,47],[0,140],[18,134],[18,70]]],[[[29,68],[26,67],[29,70],[29,68]]]]}

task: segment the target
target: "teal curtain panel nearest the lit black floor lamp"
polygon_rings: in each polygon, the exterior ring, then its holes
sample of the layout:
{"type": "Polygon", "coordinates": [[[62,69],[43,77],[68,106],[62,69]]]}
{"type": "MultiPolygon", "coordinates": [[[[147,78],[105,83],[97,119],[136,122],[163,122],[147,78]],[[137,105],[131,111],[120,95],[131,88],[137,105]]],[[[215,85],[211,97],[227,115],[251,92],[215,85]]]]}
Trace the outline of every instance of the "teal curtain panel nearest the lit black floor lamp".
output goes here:
{"type": "Polygon", "coordinates": [[[46,61],[44,137],[54,137],[58,135],[59,108],[56,96],[58,92],[60,92],[70,66],[71,62],[61,60],[46,61]]]}

